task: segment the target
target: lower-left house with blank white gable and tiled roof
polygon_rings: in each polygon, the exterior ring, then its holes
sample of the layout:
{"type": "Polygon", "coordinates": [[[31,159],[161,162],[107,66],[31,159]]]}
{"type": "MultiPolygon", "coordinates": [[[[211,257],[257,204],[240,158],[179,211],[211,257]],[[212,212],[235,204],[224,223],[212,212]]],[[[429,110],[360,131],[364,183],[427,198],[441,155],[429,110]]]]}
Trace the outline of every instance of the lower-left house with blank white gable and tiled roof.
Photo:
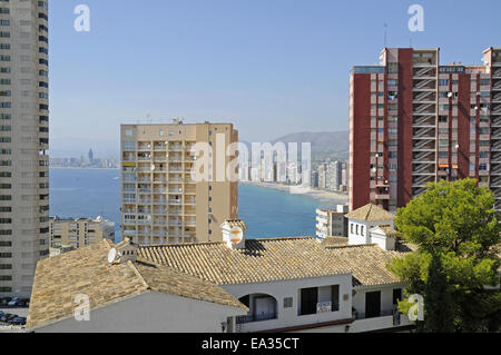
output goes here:
{"type": "Polygon", "coordinates": [[[222,333],[248,308],[222,287],[136,259],[126,240],[40,262],[27,328],[36,333],[222,333]],[[87,316],[88,315],[88,316],[87,316]]]}

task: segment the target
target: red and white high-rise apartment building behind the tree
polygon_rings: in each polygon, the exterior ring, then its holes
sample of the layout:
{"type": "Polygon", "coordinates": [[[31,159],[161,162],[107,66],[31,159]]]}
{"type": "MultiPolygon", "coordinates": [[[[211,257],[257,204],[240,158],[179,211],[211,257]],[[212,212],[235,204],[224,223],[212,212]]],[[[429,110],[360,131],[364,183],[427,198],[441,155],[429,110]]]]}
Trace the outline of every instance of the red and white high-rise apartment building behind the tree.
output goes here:
{"type": "Polygon", "coordinates": [[[477,178],[501,209],[501,49],[440,65],[440,49],[384,49],[350,80],[350,208],[394,211],[430,181],[477,178]]]}

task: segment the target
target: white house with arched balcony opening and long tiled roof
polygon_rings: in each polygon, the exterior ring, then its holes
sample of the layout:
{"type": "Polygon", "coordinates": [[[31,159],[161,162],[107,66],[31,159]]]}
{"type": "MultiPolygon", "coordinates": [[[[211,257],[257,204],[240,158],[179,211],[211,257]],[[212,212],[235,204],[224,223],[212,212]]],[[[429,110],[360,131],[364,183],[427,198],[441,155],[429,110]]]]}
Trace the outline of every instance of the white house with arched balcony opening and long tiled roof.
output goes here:
{"type": "Polygon", "coordinates": [[[249,308],[236,318],[236,332],[345,333],[412,325],[396,312],[405,284],[386,269],[404,253],[374,244],[245,240],[239,235],[234,244],[144,246],[139,256],[220,285],[249,308]]]}

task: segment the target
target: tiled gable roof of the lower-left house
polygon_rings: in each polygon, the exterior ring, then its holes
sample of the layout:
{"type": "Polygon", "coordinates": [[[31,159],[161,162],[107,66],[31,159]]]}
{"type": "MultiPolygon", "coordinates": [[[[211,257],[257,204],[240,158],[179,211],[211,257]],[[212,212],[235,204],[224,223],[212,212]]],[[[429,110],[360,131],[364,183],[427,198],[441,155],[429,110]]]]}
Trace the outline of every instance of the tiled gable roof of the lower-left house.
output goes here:
{"type": "Polygon", "coordinates": [[[27,327],[35,328],[70,317],[75,312],[77,295],[89,296],[91,309],[148,290],[246,309],[219,286],[166,266],[140,262],[110,265],[108,263],[110,247],[110,243],[104,240],[39,262],[27,327]]]}

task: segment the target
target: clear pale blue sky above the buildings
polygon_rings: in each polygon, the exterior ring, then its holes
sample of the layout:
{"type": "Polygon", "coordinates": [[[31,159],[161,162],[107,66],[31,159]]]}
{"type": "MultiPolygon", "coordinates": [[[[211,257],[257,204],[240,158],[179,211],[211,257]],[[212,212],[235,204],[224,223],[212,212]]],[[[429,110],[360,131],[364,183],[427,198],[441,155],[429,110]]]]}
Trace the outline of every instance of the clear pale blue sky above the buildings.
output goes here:
{"type": "MultiPolygon", "coordinates": [[[[348,128],[348,80],[387,47],[480,65],[498,0],[50,0],[52,156],[119,149],[119,125],[229,121],[246,141],[348,128]],[[77,32],[78,4],[90,31],[77,32]],[[410,6],[424,9],[411,32],[410,6]]],[[[333,142],[335,144],[335,142],[333,142]]]]}

